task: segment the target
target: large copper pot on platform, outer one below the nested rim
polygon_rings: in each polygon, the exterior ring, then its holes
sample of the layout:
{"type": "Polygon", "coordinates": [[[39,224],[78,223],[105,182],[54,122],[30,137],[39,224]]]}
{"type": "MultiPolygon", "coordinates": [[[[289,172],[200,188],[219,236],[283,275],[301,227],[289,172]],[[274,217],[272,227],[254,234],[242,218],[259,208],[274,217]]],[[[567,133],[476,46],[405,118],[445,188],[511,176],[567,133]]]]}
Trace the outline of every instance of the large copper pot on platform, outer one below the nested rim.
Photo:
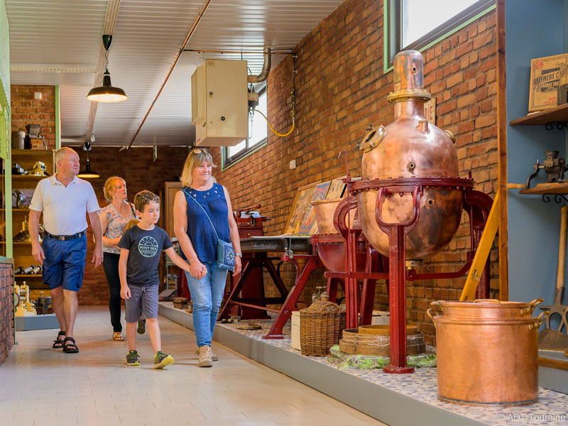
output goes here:
{"type": "Polygon", "coordinates": [[[538,391],[539,317],[428,315],[436,327],[438,399],[463,405],[528,405],[538,391]]]}

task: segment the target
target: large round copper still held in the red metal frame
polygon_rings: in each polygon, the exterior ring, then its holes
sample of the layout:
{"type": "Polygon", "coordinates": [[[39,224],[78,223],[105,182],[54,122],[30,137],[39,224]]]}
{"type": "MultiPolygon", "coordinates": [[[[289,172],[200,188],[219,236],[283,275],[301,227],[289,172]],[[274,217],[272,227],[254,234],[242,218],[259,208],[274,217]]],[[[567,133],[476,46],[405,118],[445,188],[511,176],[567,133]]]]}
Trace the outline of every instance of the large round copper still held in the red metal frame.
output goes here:
{"type": "MultiPolygon", "coordinates": [[[[388,126],[371,129],[360,144],[364,151],[361,178],[457,178],[458,160],[454,136],[430,124],[424,103],[431,96],[424,91],[422,55],[415,50],[398,53],[394,60],[395,119],[388,126]]],[[[357,193],[364,234],[379,253],[388,256],[388,236],[376,221],[378,190],[357,193]]],[[[425,187],[420,199],[420,219],[408,234],[406,258],[420,260],[446,246],[461,220],[463,190],[459,187],[425,187]]],[[[388,197],[382,207],[385,222],[406,222],[413,214],[413,195],[388,197]]]]}

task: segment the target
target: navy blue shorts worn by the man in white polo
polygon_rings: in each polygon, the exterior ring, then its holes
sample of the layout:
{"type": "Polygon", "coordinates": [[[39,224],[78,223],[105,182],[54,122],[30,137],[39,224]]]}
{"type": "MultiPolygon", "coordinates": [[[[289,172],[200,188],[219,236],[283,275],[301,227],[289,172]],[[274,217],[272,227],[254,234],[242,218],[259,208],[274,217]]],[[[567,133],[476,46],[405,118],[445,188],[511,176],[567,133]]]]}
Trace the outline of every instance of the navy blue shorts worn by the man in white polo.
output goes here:
{"type": "Polygon", "coordinates": [[[64,241],[46,235],[41,247],[45,254],[43,282],[50,290],[62,285],[64,290],[79,291],[87,256],[85,233],[79,238],[64,241]]]}

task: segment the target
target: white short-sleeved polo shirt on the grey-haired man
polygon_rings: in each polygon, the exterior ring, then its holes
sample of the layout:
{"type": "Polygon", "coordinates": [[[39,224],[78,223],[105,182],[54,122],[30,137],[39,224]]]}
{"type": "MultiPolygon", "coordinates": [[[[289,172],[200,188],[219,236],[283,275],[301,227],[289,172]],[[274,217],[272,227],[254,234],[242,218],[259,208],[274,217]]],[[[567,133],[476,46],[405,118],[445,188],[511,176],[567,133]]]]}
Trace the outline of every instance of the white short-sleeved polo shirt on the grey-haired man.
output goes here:
{"type": "Polygon", "coordinates": [[[30,209],[43,212],[43,229],[54,235],[72,235],[87,229],[87,212],[98,212],[99,202],[86,180],[75,178],[67,187],[56,175],[35,187],[30,209]]]}

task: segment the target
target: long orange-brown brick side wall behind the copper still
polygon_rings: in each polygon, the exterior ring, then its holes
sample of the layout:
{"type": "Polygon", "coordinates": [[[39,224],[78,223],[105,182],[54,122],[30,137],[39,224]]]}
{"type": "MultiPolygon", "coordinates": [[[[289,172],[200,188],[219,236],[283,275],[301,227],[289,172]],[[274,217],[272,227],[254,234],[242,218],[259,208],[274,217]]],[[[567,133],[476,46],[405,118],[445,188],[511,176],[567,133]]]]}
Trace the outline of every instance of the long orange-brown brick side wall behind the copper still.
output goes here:
{"type": "MultiPolygon", "coordinates": [[[[496,143],[496,16],[488,13],[423,52],[425,89],[437,102],[437,126],[457,136],[460,176],[471,170],[475,189],[494,195],[496,143]]],[[[234,206],[262,204],[273,220],[268,234],[281,234],[297,187],[345,174],[341,149],[349,153],[352,175],[359,175],[361,153],[353,148],[368,124],[387,125],[393,107],[393,73],[383,74],[382,2],[347,0],[308,34],[297,47],[296,129],[280,138],[269,131],[268,146],[217,178],[228,187],[234,206]],[[290,160],[297,168],[289,170],[290,160]]],[[[291,126],[293,60],[285,58],[268,77],[268,117],[278,131],[291,126]]],[[[215,150],[216,152],[218,150],[215,150]]],[[[464,214],[449,246],[425,259],[419,272],[455,271],[469,248],[464,214]]],[[[491,260],[496,261],[496,251],[491,260]]],[[[491,268],[492,293],[498,288],[498,264],[491,268]]],[[[320,278],[321,279],[321,278],[320,278]]],[[[465,278],[419,281],[407,285],[407,317],[422,324],[432,342],[434,327],[425,316],[432,300],[459,298],[465,278]]],[[[288,280],[290,285],[290,280],[288,280]]],[[[311,284],[315,285],[314,283],[311,284]]],[[[311,293],[307,290],[306,299],[311,293]]],[[[376,308],[388,309],[386,286],[378,285],[376,308]]]]}

